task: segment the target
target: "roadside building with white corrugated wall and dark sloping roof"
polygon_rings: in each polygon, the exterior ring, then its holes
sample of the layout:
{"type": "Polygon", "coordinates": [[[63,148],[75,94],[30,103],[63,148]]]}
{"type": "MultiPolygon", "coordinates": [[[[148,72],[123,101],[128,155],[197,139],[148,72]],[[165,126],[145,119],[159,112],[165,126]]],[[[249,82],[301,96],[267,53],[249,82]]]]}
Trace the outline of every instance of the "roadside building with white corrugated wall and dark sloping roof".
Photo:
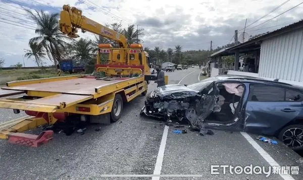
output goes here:
{"type": "Polygon", "coordinates": [[[303,85],[303,20],[216,52],[210,58],[220,60],[222,56],[235,55],[235,64],[238,64],[239,56],[247,54],[254,56],[252,65],[256,73],[240,72],[237,67],[228,73],[278,78],[303,85]]]}

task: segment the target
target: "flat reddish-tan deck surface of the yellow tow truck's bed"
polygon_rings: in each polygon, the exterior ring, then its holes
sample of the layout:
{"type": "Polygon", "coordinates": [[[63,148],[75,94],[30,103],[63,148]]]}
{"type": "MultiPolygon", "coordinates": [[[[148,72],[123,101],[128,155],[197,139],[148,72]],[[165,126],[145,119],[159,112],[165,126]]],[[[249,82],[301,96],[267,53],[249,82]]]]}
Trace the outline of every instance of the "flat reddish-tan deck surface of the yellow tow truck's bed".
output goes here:
{"type": "Polygon", "coordinates": [[[60,81],[32,83],[17,86],[6,86],[2,89],[17,90],[17,91],[40,91],[40,92],[53,92],[65,93],[76,95],[94,95],[95,87],[102,87],[113,83],[121,82],[130,78],[120,78],[114,80],[98,80],[92,78],[74,78],[60,81]]]}

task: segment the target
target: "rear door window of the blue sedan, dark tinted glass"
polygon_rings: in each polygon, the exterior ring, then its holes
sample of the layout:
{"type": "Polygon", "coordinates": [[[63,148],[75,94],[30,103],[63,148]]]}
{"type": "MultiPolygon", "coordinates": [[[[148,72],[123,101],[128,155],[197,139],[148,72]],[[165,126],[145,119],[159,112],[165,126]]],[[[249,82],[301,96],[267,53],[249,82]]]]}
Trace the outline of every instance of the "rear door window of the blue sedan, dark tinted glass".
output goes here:
{"type": "Polygon", "coordinates": [[[284,95],[284,88],[263,84],[251,84],[248,101],[284,101],[284,95]]]}

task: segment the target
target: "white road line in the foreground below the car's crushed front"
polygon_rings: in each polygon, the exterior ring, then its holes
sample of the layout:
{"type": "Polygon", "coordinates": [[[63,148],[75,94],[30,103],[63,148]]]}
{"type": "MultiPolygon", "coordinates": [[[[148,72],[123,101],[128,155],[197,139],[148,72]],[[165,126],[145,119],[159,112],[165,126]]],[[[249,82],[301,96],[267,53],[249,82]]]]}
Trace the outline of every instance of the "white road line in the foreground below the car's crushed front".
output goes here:
{"type": "MultiPolygon", "coordinates": [[[[164,151],[165,151],[165,146],[166,146],[168,128],[169,128],[169,126],[164,127],[162,140],[161,140],[161,144],[160,144],[160,148],[159,148],[159,152],[158,152],[158,157],[157,157],[155,170],[154,170],[154,174],[157,174],[157,175],[161,174],[161,168],[162,168],[162,162],[163,162],[164,151]]],[[[159,180],[159,179],[160,179],[160,176],[153,177],[153,180],[159,180]]]]}

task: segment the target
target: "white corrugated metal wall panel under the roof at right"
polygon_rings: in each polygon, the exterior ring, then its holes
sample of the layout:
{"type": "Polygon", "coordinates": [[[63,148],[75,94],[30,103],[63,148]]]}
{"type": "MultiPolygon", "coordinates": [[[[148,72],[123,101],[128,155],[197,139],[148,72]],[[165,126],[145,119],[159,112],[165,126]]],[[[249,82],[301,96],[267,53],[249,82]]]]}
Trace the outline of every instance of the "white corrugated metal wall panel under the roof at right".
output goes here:
{"type": "Polygon", "coordinates": [[[303,29],[263,40],[259,76],[303,81],[303,29]]]}

